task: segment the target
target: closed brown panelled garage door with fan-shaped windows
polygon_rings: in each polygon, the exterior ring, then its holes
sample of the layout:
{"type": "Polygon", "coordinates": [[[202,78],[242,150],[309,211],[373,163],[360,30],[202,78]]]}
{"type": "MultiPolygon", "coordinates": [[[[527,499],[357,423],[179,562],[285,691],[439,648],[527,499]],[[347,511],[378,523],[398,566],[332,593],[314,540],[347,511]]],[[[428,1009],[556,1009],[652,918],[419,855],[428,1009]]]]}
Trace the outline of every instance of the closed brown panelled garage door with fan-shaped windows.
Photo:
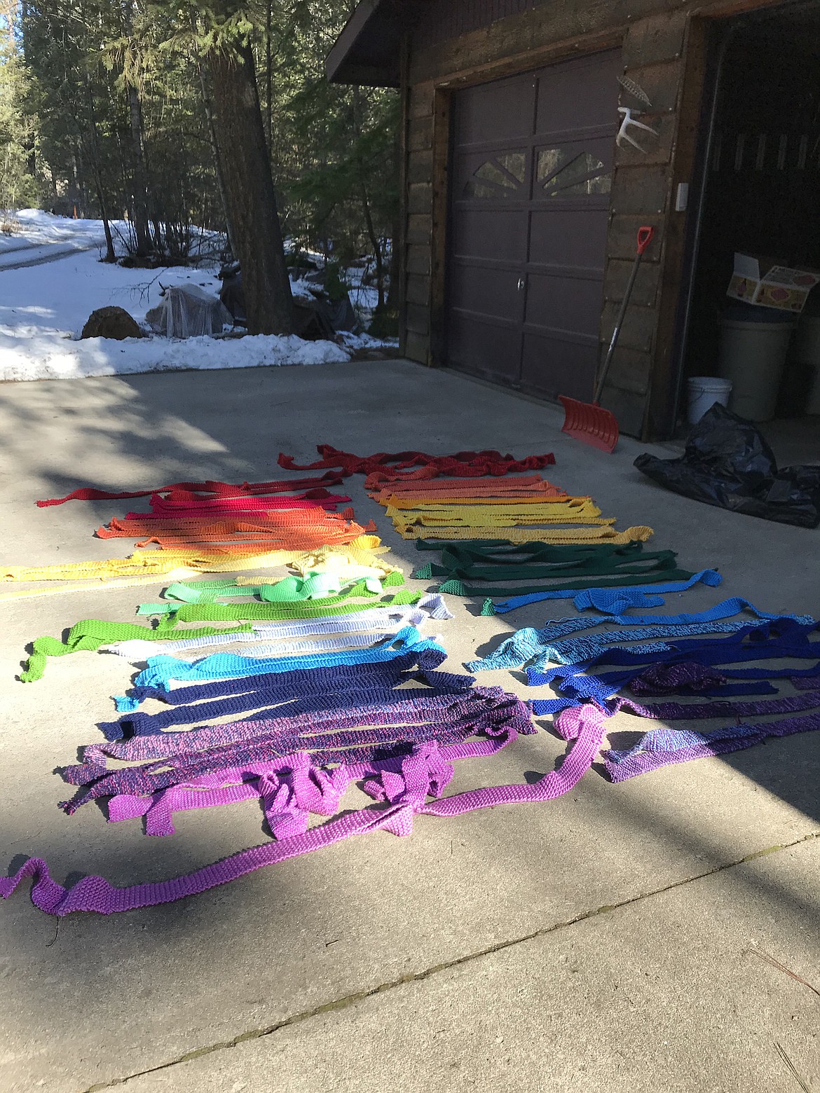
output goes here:
{"type": "Polygon", "coordinates": [[[591,396],[621,71],[613,50],[456,93],[453,367],[591,396]]]}

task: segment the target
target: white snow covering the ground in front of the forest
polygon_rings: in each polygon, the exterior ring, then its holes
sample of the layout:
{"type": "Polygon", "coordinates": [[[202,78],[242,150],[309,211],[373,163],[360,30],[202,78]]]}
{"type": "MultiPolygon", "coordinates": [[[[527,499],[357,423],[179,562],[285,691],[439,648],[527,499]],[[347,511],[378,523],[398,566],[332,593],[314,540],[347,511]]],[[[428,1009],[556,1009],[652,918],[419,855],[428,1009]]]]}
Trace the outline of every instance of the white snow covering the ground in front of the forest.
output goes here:
{"type": "MultiPolygon", "coordinates": [[[[367,334],[344,334],[341,344],[261,334],[80,341],[80,331],[96,308],[122,307],[143,324],[145,313],[160,303],[163,287],[192,284],[216,295],[221,287],[216,271],[106,265],[99,261],[102,222],[52,216],[34,209],[19,212],[16,219],[15,234],[0,235],[0,379],[328,364],[349,361],[360,349],[385,345],[367,334]],[[30,259],[37,265],[9,268],[30,259]]],[[[127,231],[128,225],[117,226],[127,231]]],[[[304,291],[294,284],[295,294],[304,291]]]]}

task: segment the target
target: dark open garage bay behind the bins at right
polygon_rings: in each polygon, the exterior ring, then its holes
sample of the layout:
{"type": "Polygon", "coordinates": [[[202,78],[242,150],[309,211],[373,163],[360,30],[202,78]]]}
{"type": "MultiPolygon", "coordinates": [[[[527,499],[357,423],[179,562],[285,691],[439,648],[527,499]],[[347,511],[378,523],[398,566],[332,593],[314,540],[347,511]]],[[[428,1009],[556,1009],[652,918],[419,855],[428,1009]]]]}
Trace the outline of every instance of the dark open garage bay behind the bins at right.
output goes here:
{"type": "Polygon", "coordinates": [[[731,376],[734,368],[739,391],[757,367],[757,401],[738,395],[730,408],[761,423],[778,461],[817,462],[820,416],[811,414],[820,415],[820,285],[799,315],[737,304],[726,292],[736,252],[820,270],[820,3],[722,22],[713,59],[683,378],[731,376]],[[739,338],[734,364],[727,330],[739,338]],[[771,365],[753,363],[763,342],[780,346],[766,357],[771,365]]]}

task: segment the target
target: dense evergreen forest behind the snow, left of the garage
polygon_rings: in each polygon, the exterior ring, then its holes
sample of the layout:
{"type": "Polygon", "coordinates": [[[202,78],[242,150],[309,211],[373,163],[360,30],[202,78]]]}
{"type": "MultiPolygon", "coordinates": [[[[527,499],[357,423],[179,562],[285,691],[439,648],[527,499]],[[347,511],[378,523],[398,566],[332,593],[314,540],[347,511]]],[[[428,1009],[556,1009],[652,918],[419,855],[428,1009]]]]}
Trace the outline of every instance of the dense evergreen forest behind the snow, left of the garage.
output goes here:
{"type": "MultiPolygon", "coordinates": [[[[288,267],[365,255],[390,324],[398,98],[327,82],[350,0],[4,0],[0,208],[99,218],[105,260],[222,232],[248,329],[292,329],[288,267]],[[127,220],[122,233],[112,222],[127,220]],[[119,235],[119,238],[115,237],[119,235]]],[[[396,279],[393,279],[394,285],[396,279]]]]}

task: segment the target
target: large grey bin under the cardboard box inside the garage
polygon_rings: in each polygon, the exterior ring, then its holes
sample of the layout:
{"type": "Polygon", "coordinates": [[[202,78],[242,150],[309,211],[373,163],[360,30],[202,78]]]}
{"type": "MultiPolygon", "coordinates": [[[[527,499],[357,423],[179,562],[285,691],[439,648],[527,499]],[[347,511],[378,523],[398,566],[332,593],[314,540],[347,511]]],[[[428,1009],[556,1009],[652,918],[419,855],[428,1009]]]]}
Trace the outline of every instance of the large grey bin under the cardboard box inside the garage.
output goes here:
{"type": "Polygon", "coordinates": [[[774,418],[794,329],[794,321],[721,320],[718,371],[731,380],[729,410],[748,421],[774,418]]]}

